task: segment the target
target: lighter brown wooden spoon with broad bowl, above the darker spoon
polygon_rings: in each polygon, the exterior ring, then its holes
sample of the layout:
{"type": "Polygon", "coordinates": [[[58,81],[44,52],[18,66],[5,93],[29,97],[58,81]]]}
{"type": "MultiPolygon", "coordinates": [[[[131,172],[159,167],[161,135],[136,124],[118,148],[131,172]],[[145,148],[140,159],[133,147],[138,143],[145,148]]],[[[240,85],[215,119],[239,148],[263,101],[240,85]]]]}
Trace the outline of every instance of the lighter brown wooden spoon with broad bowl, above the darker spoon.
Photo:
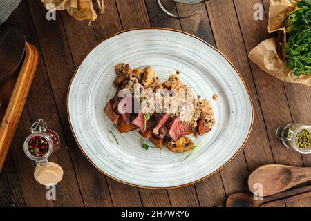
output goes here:
{"type": "Polygon", "coordinates": [[[252,193],[263,186],[263,197],[281,193],[303,182],[311,180],[311,168],[270,164],[256,169],[248,178],[252,193]]]}

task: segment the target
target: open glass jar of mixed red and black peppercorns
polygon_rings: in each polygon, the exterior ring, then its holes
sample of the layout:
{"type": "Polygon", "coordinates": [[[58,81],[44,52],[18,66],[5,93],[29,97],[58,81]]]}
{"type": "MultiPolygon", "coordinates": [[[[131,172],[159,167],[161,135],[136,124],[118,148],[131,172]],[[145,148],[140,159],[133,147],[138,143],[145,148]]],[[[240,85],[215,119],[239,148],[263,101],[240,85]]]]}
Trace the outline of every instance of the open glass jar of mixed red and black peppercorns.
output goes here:
{"type": "Polygon", "coordinates": [[[48,162],[48,157],[59,149],[60,140],[57,133],[46,126],[43,119],[32,125],[31,134],[23,143],[23,151],[36,164],[48,162]]]}

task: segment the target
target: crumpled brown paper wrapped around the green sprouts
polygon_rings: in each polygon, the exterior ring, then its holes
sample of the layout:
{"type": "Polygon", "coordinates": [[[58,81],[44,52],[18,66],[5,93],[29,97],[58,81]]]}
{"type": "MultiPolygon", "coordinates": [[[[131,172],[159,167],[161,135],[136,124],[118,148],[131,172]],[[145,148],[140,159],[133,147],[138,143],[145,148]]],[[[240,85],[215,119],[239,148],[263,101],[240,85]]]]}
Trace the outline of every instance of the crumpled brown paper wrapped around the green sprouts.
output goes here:
{"type": "Polygon", "coordinates": [[[310,75],[296,76],[285,66],[286,28],[288,12],[296,7],[295,0],[271,0],[269,8],[268,31],[279,31],[278,39],[267,39],[251,52],[249,59],[270,75],[290,83],[301,83],[311,86],[310,75]],[[280,44],[283,43],[283,44],[280,44]]]}

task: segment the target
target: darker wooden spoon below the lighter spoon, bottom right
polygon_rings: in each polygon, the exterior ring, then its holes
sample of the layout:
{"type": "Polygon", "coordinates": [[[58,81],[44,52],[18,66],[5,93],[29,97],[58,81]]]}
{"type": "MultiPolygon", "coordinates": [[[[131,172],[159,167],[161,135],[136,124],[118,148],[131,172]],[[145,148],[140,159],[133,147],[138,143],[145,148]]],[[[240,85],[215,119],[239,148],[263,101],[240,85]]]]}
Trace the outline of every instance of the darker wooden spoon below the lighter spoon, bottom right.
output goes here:
{"type": "Polygon", "coordinates": [[[286,202],[292,202],[294,200],[310,198],[311,197],[311,185],[303,186],[296,189],[290,189],[283,193],[271,195],[263,198],[263,200],[255,200],[254,195],[247,193],[234,193],[227,198],[227,207],[269,207],[284,204],[286,202]]]}

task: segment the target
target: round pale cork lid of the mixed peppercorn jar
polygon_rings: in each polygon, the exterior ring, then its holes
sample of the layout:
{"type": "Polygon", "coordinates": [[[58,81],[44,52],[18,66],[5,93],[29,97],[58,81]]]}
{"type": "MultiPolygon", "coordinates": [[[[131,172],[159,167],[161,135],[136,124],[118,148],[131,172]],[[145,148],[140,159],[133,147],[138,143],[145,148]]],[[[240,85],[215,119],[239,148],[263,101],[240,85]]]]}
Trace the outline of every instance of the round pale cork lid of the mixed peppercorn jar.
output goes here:
{"type": "Polygon", "coordinates": [[[64,171],[59,164],[48,162],[48,165],[41,164],[35,168],[35,179],[44,186],[54,186],[59,183],[64,175],[64,171]]]}

